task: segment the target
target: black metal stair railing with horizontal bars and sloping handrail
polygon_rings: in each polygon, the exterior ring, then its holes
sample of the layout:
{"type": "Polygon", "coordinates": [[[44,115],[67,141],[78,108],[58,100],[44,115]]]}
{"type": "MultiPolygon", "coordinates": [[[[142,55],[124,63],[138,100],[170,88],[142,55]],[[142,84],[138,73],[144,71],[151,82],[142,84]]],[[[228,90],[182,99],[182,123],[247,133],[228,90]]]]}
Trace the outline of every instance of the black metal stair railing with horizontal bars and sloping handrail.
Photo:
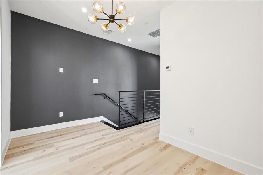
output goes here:
{"type": "Polygon", "coordinates": [[[119,107],[118,128],[123,129],[160,118],[160,91],[119,91],[119,103],[104,95],[119,107]]]}

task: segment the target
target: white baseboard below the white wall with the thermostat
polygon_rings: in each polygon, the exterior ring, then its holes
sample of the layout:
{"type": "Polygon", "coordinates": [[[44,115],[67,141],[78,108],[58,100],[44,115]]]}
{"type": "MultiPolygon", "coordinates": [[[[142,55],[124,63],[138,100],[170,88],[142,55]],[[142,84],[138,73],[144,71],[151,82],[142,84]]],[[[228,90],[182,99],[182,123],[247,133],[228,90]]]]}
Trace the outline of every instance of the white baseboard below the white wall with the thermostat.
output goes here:
{"type": "Polygon", "coordinates": [[[205,159],[211,160],[213,162],[216,162],[220,165],[223,165],[225,167],[228,167],[230,169],[233,169],[235,171],[238,171],[246,175],[249,175],[249,174],[262,175],[263,174],[263,169],[261,169],[260,167],[256,167],[251,164],[242,162],[240,160],[236,160],[234,158],[228,157],[226,155],[216,153],[212,150],[201,148],[199,146],[188,143],[186,141],[182,141],[172,136],[168,136],[166,134],[159,133],[159,140],[169,143],[171,145],[174,145],[183,150],[187,150],[190,153],[199,155],[205,159]]]}

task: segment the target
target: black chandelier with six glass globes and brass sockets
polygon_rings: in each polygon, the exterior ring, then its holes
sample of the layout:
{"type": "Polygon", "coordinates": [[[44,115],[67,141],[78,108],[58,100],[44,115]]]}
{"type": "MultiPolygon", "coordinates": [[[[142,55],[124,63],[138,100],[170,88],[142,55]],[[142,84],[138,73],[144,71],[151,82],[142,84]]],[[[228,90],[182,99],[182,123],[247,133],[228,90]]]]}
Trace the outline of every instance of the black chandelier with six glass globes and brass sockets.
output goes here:
{"type": "MultiPolygon", "coordinates": [[[[113,4],[113,0],[112,0],[112,4],[113,4]]],[[[119,32],[123,33],[126,31],[126,26],[124,24],[118,24],[116,22],[116,20],[125,20],[128,25],[133,25],[135,23],[135,16],[134,15],[128,15],[126,17],[126,19],[115,19],[115,16],[117,15],[117,13],[119,13],[119,14],[125,13],[126,7],[125,7],[125,4],[123,2],[118,2],[116,4],[115,15],[113,14],[113,6],[112,6],[112,14],[107,15],[107,13],[105,13],[103,11],[103,6],[102,6],[102,3],[100,1],[95,1],[92,5],[92,9],[95,13],[104,13],[108,18],[98,18],[95,14],[91,13],[88,15],[88,21],[91,24],[97,23],[98,20],[109,20],[109,23],[116,23],[119,26],[118,27],[119,32]]],[[[103,32],[107,32],[109,30],[109,23],[101,24],[101,30],[103,32]]]]}

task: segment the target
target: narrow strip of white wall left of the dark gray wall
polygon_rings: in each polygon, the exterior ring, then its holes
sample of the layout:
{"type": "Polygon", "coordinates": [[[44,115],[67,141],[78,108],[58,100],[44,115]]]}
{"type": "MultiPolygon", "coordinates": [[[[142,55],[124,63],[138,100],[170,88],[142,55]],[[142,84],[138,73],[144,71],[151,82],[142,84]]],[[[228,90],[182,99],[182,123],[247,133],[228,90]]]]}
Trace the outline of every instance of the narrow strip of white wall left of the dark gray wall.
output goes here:
{"type": "Polygon", "coordinates": [[[2,108],[1,108],[1,164],[9,145],[10,134],[10,8],[8,1],[1,0],[1,61],[2,61],[2,108]]]}

